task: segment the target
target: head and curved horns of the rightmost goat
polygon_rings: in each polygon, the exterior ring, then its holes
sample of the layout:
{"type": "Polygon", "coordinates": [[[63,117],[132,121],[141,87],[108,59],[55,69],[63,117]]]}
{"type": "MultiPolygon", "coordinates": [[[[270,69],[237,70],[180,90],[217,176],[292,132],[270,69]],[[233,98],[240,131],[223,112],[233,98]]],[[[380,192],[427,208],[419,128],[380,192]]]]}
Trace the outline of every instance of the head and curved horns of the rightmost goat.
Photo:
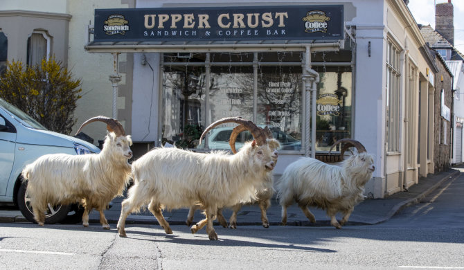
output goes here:
{"type": "MultiPolygon", "coordinates": [[[[375,170],[374,166],[374,158],[371,154],[366,152],[366,148],[362,143],[359,141],[353,140],[351,138],[343,138],[332,145],[330,147],[330,151],[335,145],[339,145],[340,143],[344,143],[343,147],[341,147],[340,154],[343,156],[344,152],[348,150],[350,147],[355,147],[357,149],[357,153],[350,156],[350,158],[343,161],[346,168],[349,168],[350,171],[355,172],[356,174],[363,175],[364,177],[360,177],[359,181],[368,181],[371,179],[372,174],[375,170]],[[361,180],[366,179],[366,180],[361,180]]],[[[365,183],[361,183],[365,184],[365,183]]]]}

